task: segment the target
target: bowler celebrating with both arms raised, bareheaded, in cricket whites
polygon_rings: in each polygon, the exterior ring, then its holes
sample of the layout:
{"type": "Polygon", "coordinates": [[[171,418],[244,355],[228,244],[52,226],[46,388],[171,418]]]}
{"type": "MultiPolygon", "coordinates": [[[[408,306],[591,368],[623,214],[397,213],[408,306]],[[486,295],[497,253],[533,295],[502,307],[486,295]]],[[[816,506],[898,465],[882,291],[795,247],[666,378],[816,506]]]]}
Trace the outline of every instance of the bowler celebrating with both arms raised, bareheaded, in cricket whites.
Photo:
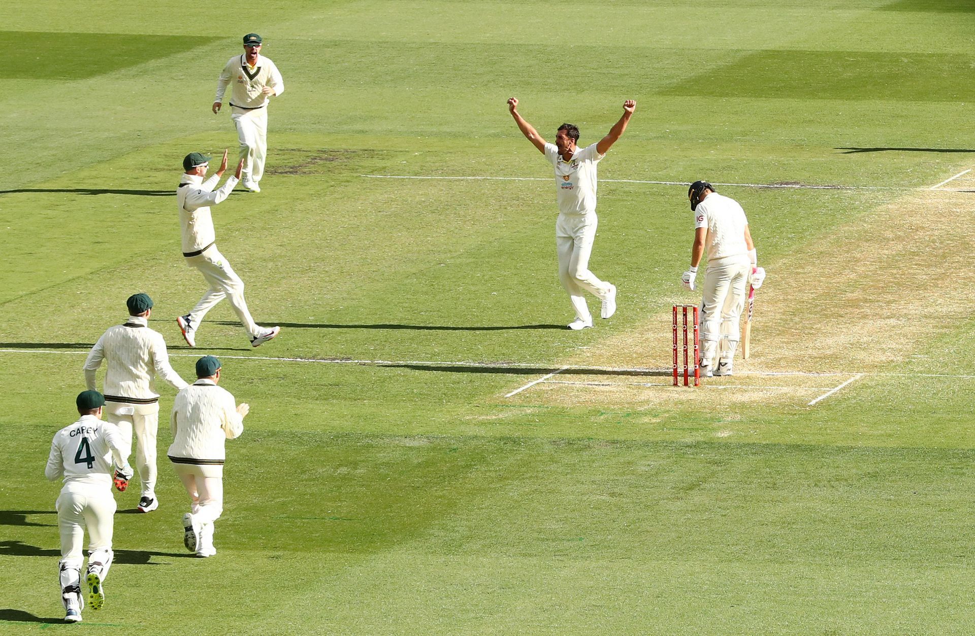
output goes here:
{"type": "Polygon", "coordinates": [[[588,291],[603,303],[602,317],[609,318],[616,312],[616,287],[600,281],[589,271],[589,256],[596,240],[596,167],[612,144],[626,130],[637,102],[627,99],[623,103],[623,116],[609,133],[597,143],[578,148],[579,129],[563,124],[556,133],[555,143],[546,143],[538,131],[518,113],[518,99],[508,99],[508,110],[518,128],[539,152],[555,168],[555,183],[559,189],[559,218],[555,224],[555,240],[559,253],[559,280],[568,292],[575,310],[575,319],[569,329],[585,329],[593,326],[583,291],[588,291]]]}

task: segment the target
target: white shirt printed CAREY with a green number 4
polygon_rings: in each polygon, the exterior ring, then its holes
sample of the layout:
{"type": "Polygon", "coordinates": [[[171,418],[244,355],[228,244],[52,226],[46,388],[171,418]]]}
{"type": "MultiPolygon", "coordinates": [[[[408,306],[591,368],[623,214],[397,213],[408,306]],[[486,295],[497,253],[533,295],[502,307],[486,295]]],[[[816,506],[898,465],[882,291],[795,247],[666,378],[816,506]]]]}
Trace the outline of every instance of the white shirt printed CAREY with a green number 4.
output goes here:
{"type": "Polygon", "coordinates": [[[113,459],[123,470],[132,470],[122,431],[94,415],[83,415],[55,433],[44,474],[51,481],[64,477],[65,485],[92,484],[110,490],[113,459]]]}

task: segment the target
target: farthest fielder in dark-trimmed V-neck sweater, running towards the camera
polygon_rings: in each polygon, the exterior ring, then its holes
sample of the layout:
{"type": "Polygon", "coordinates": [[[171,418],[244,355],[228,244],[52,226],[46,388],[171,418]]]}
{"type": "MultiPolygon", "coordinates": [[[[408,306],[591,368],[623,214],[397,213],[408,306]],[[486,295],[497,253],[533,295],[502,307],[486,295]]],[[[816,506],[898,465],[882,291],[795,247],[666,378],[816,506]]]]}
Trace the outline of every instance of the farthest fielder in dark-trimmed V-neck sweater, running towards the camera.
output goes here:
{"type": "Polygon", "coordinates": [[[234,83],[230,91],[231,119],[241,142],[244,160],[244,187],[260,192],[260,177],[264,174],[267,157],[267,104],[270,98],[285,92],[285,81],[274,62],[258,54],[260,36],[248,33],[244,36],[244,55],[231,57],[216,81],[214,114],[223,105],[227,84],[234,83]]]}

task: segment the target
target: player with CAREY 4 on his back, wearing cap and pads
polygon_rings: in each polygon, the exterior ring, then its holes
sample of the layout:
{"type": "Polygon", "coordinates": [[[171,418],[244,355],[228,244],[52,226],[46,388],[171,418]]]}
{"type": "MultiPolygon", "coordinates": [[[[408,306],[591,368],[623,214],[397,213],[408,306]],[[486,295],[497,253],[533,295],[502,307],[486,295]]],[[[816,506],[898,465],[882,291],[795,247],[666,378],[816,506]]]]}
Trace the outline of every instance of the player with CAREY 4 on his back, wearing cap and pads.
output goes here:
{"type": "Polygon", "coordinates": [[[75,404],[81,416],[59,430],[51,442],[44,474],[54,481],[64,478],[58,497],[61,558],[59,579],[64,620],[79,622],[85,600],[81,595],[82,545],[88,529],[88,603],[93,610],[105,601],[104,580],[112,565],[112,463],[120,467],[117,478],[132,477],[128,445],[115,425],[101,421],[104,397],[83,391],[75,404]]]}

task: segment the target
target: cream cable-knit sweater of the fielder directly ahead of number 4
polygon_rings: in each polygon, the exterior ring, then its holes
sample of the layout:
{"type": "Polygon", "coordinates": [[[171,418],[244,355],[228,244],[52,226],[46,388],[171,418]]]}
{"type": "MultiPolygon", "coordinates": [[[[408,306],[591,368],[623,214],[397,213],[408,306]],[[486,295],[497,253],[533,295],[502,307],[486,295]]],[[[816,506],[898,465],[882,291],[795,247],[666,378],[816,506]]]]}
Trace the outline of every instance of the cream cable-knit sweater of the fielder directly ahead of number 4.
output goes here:
{"type": "Polygon", "coordinates": [[[156,374],[176,390],[186,386],[170,365],[162,334],[147,324],[146,318],[130,316],[124,324],[108,327],[85,359],[85,384],[92,391],[96,390],[96,371],[101,360],[107,361],[102,392],[106,401],[135,404],[157,401],[156,374]]]}

